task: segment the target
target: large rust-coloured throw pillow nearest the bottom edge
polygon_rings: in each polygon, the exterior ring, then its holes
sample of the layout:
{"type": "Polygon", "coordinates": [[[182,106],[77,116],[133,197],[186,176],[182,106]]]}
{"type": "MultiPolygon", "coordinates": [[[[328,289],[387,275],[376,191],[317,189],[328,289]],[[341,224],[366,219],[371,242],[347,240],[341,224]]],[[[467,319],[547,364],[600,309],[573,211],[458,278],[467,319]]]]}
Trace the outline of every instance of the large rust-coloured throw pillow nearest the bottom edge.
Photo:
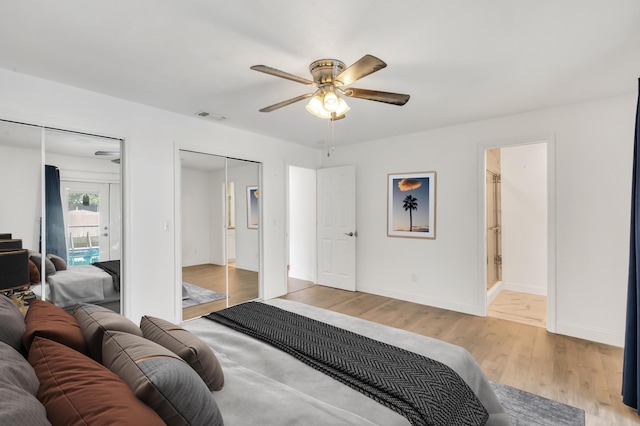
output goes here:
{"type": "Polygon", "coordinates": [[[36,337],[29,362],[40,380],[38,399],[55,425],[164,425],[120,378],[91,358],[36,337]]]}

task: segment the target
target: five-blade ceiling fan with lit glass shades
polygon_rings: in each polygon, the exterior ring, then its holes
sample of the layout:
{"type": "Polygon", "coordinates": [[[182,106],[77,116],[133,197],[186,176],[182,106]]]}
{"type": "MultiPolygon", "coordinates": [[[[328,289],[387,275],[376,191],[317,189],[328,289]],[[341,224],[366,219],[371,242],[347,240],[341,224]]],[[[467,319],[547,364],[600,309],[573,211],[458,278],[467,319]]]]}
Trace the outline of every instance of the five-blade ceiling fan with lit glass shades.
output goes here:
{"type": "Polygon", "coordinates": [[[306,84],[307,86],[317,87],[313,93],[305,93],[304,95],[264,107],[260,112],[271,112],[303,99],[311,98],[306,107],[307,111],[317,117],[333,121],[344,118],[345,113],[350,109],[339,95],[392,105],[404,105],[409,101],[409,95],[401,93],[347,87],[362,77],[379,71],[386,66],[387,64],[384,61],[372,55],[364,55],[348,68],[344,62],[336,59],[320,59],[309,65],[309,72],[313,77],[313,81],[266,65],[254,65],[251,69],[306,84]]]}

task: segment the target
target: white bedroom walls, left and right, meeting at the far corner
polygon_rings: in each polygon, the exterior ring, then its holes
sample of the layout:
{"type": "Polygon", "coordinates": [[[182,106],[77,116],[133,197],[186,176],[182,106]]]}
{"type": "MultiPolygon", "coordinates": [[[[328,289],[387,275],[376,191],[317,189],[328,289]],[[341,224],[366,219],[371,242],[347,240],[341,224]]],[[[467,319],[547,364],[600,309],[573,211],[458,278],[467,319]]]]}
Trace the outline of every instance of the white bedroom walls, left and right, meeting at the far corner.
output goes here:
{"type": "MultiPolygon", "coordinates": [[[[263,164],[264,297],[286,292],[285,165],[356,165],[358,290],[482,311],[478,151],[553,138],[556,330],[623,344],[636,95],[322,152],[0,70],[0,117],[122,137],[124,312],[176,321],[175,173],[180,148],[263,164]],[[386,237],[387,173],[438,172],[437,239],[386,237]],[[415,274],[417,281],[412,282],[415,274]]],[[[256,114],[258,114],[256,112],[256,114]]],[[[3,230],[4,232],[4,230],[3,230]]]]}

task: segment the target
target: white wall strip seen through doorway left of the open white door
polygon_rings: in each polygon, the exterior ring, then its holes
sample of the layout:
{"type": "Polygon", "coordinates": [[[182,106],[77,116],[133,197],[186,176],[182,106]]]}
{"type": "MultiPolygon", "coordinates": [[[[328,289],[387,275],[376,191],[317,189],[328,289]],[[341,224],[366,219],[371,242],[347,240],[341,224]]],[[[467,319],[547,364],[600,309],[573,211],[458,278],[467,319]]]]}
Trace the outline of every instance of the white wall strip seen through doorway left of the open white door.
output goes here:
{"type": "Polygon", "coordinates": [[[289,276],[316,281],[316,171],[289,167],[289,276]]]}

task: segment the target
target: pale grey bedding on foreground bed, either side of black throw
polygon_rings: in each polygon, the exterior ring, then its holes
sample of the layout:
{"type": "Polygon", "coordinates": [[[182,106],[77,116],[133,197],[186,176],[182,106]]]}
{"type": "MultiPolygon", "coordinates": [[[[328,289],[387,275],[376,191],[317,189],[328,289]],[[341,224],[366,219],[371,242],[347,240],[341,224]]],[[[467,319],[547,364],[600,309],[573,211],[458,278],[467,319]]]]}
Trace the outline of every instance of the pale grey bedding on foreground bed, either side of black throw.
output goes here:
{"type": "MultiPolygon", "coordinates": [[[[480,367],[459,346],[289,300],[264,303],[443,362],[478,395],[490,415],[487,425],[511,424],[480,367]]],[[[181,326],[211,346],[222,365],[225,385],[214,398],[227,426],[409,424],[400,414],[263,342],[205,318],[181,326]]]]}

